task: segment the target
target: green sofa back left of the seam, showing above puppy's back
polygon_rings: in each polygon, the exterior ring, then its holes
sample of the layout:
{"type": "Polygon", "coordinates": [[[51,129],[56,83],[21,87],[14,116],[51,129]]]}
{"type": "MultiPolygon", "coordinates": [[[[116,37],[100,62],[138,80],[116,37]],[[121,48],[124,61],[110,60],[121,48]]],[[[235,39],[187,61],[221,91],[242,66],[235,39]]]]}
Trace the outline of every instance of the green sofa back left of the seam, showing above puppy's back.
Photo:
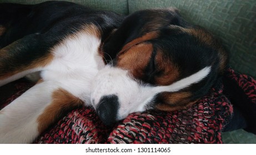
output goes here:
{"type": "MultiPolygon", "coordinates": [[[[0,0],[5,3],[20,3],[20,4],[36,4],[47,0],[0,0]]],[[[62,0],[63,1],[63,0],[62,0]]],[[[128,14],[128,0],[64,0],[82,4],[94,9],[102,9],[107,11],[115,11],[120,14],[128,14]]]]}

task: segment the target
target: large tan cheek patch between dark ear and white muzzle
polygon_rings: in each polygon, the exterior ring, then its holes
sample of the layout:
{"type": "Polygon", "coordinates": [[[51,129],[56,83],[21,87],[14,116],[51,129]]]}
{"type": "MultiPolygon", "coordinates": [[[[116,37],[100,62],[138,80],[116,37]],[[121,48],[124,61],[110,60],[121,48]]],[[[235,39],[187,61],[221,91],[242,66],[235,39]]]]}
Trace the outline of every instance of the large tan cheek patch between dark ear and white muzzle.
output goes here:
{"type": "Polygon", "coordinates": [[[153,51],[152,44],[139,44],[118,56],[117,67],[126,69],[134,78],[144,76],[144,69],[149,63],[153,51]]]}

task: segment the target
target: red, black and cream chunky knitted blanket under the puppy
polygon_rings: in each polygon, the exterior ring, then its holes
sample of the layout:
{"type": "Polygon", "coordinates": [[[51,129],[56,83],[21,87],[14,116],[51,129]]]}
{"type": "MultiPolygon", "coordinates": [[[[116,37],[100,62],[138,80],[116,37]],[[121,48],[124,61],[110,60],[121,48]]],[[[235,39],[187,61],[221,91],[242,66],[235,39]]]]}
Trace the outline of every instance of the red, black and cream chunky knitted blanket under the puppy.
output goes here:
{"type": "MultiPolygon", "coordinates": [[[[256,104],[256,81],[228,69],[225,74],[256,104]]],[[[14,82],[15,92],[0,108],[8,105],[33,84],[14,82]]],[[[103,125],[92,107],[76,108],[42,133],[34,143],[222,143],[222,130],[232,118],[233,107],[215,85],[187,110],[150,110],[131,113],[112,127],[103,125]]]]}

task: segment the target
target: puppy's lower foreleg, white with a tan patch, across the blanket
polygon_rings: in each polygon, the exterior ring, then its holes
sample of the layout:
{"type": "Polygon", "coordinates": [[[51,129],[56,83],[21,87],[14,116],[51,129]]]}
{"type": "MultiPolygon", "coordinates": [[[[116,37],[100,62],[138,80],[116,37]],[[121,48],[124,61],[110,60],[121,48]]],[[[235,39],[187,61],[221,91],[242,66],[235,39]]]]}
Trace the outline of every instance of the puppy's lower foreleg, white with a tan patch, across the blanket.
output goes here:
{"type": "Polygon", "coordinates": [[[32,143],[63,111],[82,104],[57,82],[40,82],[0,111],[0,143],[32,143]]]}

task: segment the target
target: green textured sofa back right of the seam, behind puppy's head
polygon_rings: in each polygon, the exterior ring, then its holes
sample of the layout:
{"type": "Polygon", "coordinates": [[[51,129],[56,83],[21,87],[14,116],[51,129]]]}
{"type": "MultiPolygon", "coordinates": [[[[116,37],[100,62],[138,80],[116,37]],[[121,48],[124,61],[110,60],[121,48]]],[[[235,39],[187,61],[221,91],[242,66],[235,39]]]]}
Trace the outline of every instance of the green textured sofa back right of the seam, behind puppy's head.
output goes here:
{"type": "Polygon", "coordinates": [[[177,7],[194,24],[207,28],[230,52],[230,65],[256,77],[255,0],[129,0],[129,13],[147,8],[177,7]]]}

